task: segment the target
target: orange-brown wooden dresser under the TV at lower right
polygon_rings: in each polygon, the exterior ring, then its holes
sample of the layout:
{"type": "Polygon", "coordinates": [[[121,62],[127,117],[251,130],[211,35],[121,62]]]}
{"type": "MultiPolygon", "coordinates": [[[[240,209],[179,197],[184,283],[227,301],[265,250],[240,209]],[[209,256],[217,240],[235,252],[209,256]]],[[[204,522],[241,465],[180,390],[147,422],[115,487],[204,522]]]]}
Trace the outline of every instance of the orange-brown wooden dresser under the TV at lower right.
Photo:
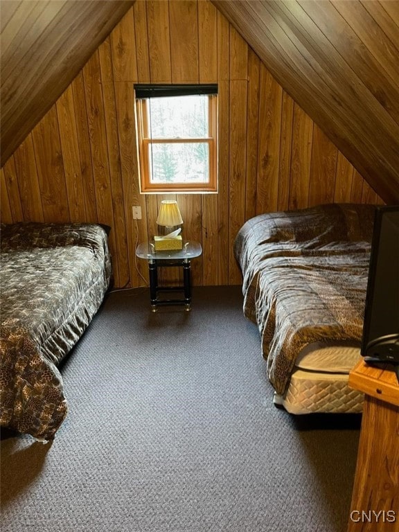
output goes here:
{"type": "Polygon", "coordinates": [[[399,384],[389,364],[361,360],[349,385],[364,409],[348,532],[399,531],[399,384]]]}

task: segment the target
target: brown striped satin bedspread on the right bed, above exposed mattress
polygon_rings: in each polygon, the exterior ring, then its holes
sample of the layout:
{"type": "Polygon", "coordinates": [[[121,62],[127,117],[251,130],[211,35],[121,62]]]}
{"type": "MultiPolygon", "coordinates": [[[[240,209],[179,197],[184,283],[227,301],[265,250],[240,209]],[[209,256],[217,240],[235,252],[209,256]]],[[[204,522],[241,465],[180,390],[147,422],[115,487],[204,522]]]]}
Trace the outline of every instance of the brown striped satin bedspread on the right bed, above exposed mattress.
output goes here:
{"type": "Polygon", "coordinates": [[[245,316],[257,323],[274,389],[311,342],[362,337],[375,207],[328,204],[258,215],[236,237],[245,316]]]}

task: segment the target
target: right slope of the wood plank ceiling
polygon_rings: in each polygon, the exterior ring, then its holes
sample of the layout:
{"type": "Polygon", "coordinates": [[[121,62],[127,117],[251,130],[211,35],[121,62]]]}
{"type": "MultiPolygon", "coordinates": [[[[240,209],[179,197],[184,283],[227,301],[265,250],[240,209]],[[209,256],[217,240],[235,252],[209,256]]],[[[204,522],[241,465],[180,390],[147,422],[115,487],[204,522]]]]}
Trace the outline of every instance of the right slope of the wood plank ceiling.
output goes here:
{"type": "Polygon", "coordinates": [[[399,2],[212,0],[387,203],[399,203],[399,2]]]}

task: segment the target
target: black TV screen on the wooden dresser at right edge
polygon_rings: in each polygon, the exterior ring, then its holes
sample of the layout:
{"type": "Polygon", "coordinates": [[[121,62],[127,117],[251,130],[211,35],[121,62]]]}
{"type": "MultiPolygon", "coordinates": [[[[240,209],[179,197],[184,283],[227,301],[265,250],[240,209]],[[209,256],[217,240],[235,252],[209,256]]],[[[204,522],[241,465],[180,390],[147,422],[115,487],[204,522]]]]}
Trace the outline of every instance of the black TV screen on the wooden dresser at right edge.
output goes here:
{"type": "Polygon", "coordinates": [[[375,210],[361,354],[399,362],[399,206],[375,210]]]}

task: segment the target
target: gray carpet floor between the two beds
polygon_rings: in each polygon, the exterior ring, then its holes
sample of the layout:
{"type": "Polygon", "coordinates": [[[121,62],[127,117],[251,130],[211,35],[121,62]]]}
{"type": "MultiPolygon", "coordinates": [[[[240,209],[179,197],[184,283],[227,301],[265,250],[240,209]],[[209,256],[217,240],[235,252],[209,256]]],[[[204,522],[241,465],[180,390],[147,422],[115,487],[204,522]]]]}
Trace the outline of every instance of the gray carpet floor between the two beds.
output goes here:
{"type": "Polygon", "coordinates": [[[110,294],[62,365],[53,443],[3,432],[1,531],[342,532],[360,416],[272,404],[240,287],[110,294]]]}

